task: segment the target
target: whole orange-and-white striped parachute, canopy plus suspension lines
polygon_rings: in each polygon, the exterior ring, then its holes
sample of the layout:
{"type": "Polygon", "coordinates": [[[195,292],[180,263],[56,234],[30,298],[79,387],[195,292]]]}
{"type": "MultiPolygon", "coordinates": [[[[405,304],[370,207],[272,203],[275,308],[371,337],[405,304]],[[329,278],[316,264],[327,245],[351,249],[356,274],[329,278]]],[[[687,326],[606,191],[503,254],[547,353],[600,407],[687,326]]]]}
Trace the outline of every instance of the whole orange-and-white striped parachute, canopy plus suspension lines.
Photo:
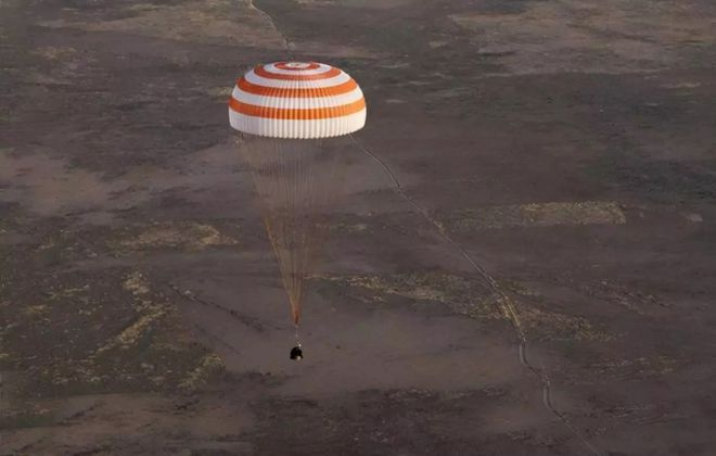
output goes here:
{"type": "Polygon", "coordinates": [[[343,187],[345,138],[366,124],[366,100],[345,72],[277,62],[241,77],[229,122],[247,163],[297,328],[320,248],[321,217],[343,187]]]}

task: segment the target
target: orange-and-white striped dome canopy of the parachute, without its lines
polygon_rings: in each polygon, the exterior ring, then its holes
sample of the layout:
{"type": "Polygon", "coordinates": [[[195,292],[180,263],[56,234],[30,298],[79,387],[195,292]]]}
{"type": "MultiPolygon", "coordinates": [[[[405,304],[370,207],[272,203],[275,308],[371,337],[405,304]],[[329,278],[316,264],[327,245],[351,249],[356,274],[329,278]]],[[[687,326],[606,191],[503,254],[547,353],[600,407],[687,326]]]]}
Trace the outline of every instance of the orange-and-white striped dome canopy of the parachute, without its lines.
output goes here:
{"type": "Polygon", "coordinates": [[[259,65],[238,81],[229,122],[242,132],[270,138],[331,138],[366,125],[366,100],[340,68],[315,62],[259,65]]]}

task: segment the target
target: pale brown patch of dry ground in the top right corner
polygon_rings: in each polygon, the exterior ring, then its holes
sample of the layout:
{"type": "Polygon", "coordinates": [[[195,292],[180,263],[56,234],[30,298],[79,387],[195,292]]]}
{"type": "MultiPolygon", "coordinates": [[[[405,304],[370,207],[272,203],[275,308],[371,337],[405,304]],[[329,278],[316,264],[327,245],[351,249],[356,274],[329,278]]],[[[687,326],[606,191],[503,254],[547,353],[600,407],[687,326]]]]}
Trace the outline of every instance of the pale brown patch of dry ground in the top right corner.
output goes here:
{"type": "Polygon", "coordinates": [[[516,74],[653,71],[688,61],[715,37],[709,14],[649,0],[529,2],[513,11],[478,4],[450,18],[474,34],[478,54],[500,55],[516,74]]]}

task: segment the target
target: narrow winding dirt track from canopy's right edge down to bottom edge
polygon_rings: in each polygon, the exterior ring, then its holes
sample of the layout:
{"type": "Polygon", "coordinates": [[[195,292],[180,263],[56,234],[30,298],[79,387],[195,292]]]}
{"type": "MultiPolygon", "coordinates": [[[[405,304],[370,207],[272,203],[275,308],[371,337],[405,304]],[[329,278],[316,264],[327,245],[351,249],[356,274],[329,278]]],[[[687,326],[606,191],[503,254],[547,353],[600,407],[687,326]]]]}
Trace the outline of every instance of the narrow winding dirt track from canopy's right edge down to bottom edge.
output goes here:
{"type": "Polygon", "coordinates": [[[562,425],[572,432],[572,434],[579,440],[579,442],[587,448],[592,455],[596,456],[603,456],[603,453],[601,453],[594,445],[585,438],[581,432],[570,421],[570,419],[564,415],[563,413],[559,411],[554,405],[552,404],[552,389],[551,389],[551,380],[549,375],[547,373],[547,369],[542,365],[541,368],[535,367],[533,364],[530,364],[529,358],[527,357],[527,335],[523,329],[523,326],[520,321],[520,318],[517,316],[517,313],[514,308],[514,304],[510,300],[510,297],[502,291],[502,289],[499,287],[497,281],[483,268],[481,267],[477,262],[475,262],[472,256],[460,245],[458,244],[447,232],[447,229],[445,226],[437,219],[435,219],[430,212],[421,206],[412,197],[410,197],[402,186],[400,185],[400,181],[396,177],[395,173],[391,169],[391,167],[380,157],[378,156],[374,152],[372,152],[370,149],[368,149],[366,145],[363,145],[361,142],[359,142],[353,135],[350,136],[350,140],[360,149],[366,155],[371,157],[375,163],[378,163],[385,174],[388,176],[389,180],[392,181],[393,185],[393,191],[398,194],[402,200],[405,200],[408,204],[410,204],[418,214],[420,214],[425,221],[430,223],[433,225],[437,232],[440,235],[440,237],[448,243],[450,244],[460,255],[468,262],[470,265],[475,269],[475,271],[480,275],[480,277],[485,281],[485,283],[488,286],[490,291],[497,296],[497,305],[504,315],[507,319],[510,320],[512,328],[514,329],[515,335],[517,337],[519,340],[519,356],[520,356],[520,363],[525,366],[538,380],[539,383],[541,384],[542,388],[542,405],[545,408],[555,416],[562,425]]]}

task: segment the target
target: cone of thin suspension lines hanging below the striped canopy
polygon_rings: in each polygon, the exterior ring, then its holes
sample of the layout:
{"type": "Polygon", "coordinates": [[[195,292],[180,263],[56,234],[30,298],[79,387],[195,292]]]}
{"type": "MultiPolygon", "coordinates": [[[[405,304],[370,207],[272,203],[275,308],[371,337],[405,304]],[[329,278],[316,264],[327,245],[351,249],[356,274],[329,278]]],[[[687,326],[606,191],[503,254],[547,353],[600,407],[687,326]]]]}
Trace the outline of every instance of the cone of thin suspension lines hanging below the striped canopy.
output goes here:
{"type": "Polygon", "coordinates": [[[252,169],[267,236],[298,325],[305,281],[325,231],[320,217],[342,187],[340,154],[328,151],[322,139],[243,137],[236,142],[252,169]]]}

